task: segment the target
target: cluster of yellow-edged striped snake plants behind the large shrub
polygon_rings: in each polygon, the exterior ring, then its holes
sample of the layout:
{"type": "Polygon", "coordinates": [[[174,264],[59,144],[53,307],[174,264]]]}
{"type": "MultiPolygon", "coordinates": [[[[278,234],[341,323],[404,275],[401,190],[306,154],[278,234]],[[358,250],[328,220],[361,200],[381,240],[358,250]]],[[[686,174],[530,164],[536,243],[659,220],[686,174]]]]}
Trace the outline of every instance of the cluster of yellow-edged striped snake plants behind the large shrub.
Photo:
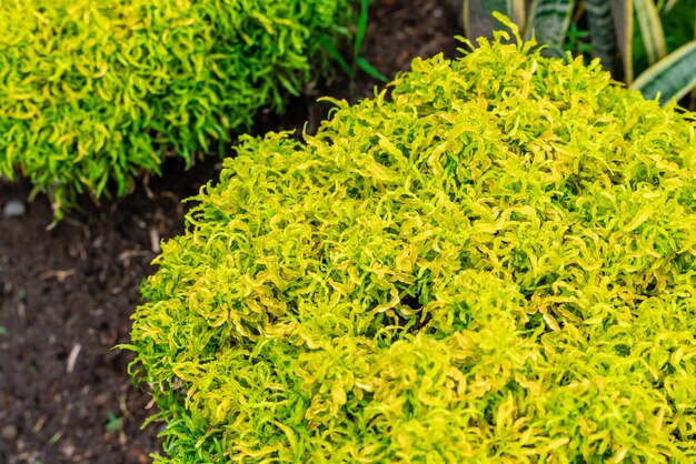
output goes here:
{"type": "MultiPolygon", "coordinates": [[[[663,103],[696,88],[696,2],[693,0],[453,0],[470,40],[491,37],[493,11],[515,21],[529,38],[563,54],[590,54],[616,79],[663,103]],[[581,24],[581,26],[579,26],[581,24]],[[578,31],[589,43],[578,41],[578,31]],[[566,46],[566,47],[564,47],[566,46]],[[588,48],[589,46],[589,48],[588,48]],[[637,75],[637,78],[635,78],[637,75]]],[[[692,107],[694,109],[695,107],[692,107]]]]}

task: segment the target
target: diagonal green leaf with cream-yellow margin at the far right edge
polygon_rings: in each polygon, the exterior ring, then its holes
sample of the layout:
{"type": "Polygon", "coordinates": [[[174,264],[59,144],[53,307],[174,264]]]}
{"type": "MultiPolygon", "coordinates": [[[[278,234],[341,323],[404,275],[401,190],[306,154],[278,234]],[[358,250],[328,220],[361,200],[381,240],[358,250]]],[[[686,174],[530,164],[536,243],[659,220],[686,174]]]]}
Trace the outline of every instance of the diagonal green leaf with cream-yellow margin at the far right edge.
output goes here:
{"type": "Polygon", "coordinates": [[[662,104],[680,100],[696,88],[696,40],[648,68],[630,88],[639,90],[646,99],[654,99],[659,92],[662,104]]]}

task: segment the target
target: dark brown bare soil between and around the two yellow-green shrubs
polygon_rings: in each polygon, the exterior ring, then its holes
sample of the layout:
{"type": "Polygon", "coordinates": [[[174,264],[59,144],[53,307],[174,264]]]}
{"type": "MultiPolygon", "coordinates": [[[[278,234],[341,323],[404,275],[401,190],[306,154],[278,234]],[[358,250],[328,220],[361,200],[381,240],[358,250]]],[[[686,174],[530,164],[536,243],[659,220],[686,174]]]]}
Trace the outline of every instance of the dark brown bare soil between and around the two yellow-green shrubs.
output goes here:
{"type": "MultiPolygon", "coordinates": [[[[394,75],[416,56],[455,56],[457,33],[448,0],[376,0],[364,56],[394,75]]],[[[375,84],[360,74],[356,93],[369,95],[375,84]]],[[[317,88],[284,117],[261,117],[255,132],[316,128],[329,108],[316,98],[347,97],[349,83],[337,75],[317,88]]],[[[82,199],[50,231],[46,196],[19,218],[0,213],[0,463],[146,463],[159,450],[161,425],[140,430],[152,411],[128,376],[132,355],[112,346],[129,342],[159,240],[182,232],[181,200],[217,178],[219,160],[188,172],[173,161],[165,168],[123,200],[82,199]]],[[[30,190],[0,181],[0,209],[27,202],[30,190]]]]}

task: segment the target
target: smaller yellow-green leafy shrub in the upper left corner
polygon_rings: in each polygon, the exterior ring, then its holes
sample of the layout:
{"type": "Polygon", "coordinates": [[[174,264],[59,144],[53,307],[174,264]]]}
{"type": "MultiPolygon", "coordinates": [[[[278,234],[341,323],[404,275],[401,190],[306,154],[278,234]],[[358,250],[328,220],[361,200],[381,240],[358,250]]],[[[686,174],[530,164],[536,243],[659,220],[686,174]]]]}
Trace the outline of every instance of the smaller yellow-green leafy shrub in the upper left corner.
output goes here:
{"type": "Polygon", "coordinates": [[[0,174],[127,193],[167,155],[219,150],[326,62],[352,0],[3,0],[0,174]]]}

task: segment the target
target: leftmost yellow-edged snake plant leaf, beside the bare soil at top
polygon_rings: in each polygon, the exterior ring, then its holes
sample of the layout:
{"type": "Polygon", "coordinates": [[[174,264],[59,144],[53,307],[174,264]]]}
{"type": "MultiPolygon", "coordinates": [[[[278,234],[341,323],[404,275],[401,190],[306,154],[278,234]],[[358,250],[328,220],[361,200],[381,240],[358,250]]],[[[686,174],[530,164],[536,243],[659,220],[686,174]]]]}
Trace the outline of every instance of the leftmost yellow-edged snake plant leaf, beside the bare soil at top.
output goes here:
{"type": "Polygon", "coordinates": [[[493,39],[493,31],[499,29],[494,11],[505,14],[520,28],[525,23],[525,0],[465,0],[463,10],[464,32],[471,41],[479,37],[493,39]]]}

